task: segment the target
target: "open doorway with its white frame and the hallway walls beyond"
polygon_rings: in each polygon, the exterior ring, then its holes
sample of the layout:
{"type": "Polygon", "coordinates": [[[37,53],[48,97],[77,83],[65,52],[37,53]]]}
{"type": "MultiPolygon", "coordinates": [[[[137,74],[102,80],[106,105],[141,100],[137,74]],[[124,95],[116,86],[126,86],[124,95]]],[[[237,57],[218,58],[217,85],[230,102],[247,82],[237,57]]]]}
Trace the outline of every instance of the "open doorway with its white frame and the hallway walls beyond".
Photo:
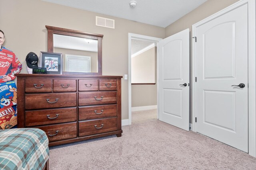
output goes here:
{"type": "Polygon", "coordinates": [[[158,118],[158,41],[160,38],[128,34],[129,125],[132,111],[156,109],[158,118]]]}

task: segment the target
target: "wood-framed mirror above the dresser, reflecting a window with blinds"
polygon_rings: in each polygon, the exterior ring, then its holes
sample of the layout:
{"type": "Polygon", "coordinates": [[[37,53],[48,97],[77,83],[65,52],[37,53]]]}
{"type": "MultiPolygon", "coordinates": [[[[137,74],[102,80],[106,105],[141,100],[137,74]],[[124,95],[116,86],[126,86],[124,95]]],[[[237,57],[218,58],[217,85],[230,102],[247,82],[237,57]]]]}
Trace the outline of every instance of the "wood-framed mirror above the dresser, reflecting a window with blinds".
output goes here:
{"type": "Polygon", "coordinates": [[[101,34],[45,26],[48,52],[63,54],[63,74],[102,75],[101,34]]]}

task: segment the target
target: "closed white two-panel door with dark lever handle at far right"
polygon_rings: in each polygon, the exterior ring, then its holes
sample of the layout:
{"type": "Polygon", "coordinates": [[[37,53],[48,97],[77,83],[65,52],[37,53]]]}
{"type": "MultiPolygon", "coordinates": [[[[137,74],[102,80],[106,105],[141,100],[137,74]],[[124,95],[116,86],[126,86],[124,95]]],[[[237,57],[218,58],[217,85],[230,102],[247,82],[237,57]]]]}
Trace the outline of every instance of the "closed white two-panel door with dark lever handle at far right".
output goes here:
{"type": "Polygon", "coordinates": [[[195,43],[197,132],[245,152],[248,152],[247,6],[244,4],[196,27],[195,43]]]}

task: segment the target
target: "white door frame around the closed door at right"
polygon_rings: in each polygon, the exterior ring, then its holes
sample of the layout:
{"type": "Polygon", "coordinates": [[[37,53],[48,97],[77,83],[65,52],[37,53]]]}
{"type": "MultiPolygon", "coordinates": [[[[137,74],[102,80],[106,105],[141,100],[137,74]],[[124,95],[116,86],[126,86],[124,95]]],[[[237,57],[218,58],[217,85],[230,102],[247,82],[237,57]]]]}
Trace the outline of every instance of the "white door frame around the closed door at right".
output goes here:
{"type": "MultiPolygon", "coordinates": [[[[255,0],[240,0],[227,8],[192,25],[192,37],[196,37],[196,27],[213,20],[243,4],[248,4],[248,151],[249,155],[256,157],[256,35],[255,35],[255,0]]],[[[192,126],[196,130],[196,43],[192,40],[192,126]]]]}

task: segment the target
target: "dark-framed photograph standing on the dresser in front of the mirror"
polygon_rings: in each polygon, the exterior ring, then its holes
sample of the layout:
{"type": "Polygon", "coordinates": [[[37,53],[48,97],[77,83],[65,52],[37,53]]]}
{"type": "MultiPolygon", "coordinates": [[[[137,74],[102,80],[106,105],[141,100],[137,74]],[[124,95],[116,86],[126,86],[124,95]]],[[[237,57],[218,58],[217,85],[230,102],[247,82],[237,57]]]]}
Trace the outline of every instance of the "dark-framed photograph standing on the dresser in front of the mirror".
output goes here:
{"type": "Polygon", "coordinates": [[[62,74],[63,54],[40,52],[40,67],[45,67],[48,74],[62,74]]]}

